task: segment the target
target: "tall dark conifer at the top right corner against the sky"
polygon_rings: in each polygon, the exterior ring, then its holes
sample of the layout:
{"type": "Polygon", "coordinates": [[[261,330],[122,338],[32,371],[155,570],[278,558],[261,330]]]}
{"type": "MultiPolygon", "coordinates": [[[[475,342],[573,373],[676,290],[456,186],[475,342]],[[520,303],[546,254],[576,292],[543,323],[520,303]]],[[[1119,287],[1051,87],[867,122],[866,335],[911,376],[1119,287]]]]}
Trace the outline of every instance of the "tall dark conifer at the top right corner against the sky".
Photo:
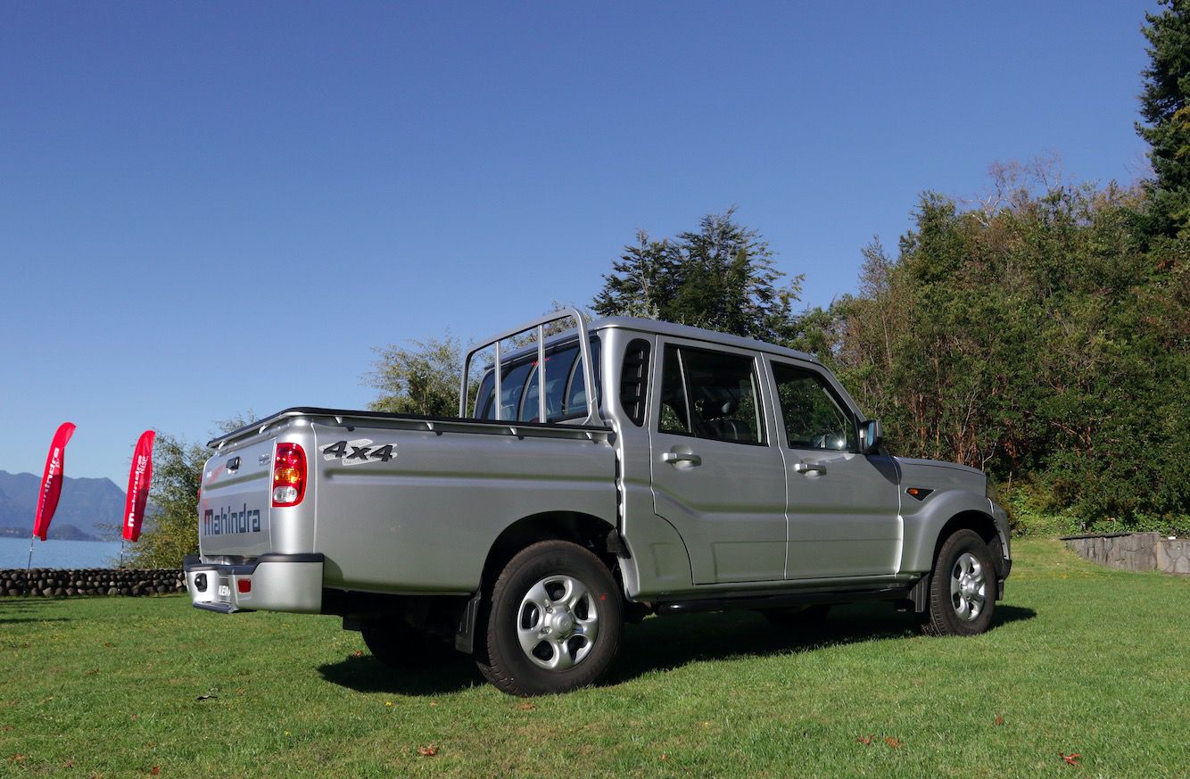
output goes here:
{"type": "Polygon", "coordinates": [[[1150,182],[1152,232],[1178,235],[1190,224],[1190,13],[1185,0],[1161,0],[1145,14],[1148,68],[1140,94],[1145,123],[1136,132],[1150,144],[1155,180],[1150,182]]]}

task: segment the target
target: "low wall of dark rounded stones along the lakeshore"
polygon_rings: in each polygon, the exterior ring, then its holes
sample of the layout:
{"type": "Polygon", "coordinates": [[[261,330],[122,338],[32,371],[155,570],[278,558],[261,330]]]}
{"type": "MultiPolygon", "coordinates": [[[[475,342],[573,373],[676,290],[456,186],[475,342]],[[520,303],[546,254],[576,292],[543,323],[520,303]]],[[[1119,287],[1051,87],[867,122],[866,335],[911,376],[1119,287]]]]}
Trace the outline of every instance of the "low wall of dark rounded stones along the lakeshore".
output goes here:
{"type": "Polygon", "coordinates": [[[0,596],[152,596],[186,592],[180,568],[12,568],[0,571],[0,596]]]}

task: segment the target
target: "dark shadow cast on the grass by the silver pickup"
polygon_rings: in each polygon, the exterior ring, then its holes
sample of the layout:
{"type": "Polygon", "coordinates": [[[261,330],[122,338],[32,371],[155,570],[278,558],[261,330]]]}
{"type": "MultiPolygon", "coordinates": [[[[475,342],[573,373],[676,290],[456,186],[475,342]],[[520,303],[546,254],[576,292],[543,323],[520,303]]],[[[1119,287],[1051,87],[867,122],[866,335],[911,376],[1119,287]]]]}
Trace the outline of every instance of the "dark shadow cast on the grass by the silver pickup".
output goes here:
{"type": "MultiPolygon", "coordinates": [[[[1032,619],[1022,606],[996,606],[994,629],[1032,619]]],[[[650,617],[626,625],[620,654],[599,683],[610,687],[657,671],[670,671],[706,660],[758,658],[813,652],[821,647],[916,636],[912,615],[887,604],[837,606],[820,624],[775,628],[759,613],[650,617]]],[[[433,696],[487,684],[470,658],[449,649],[432,663],[389,668],[364,653],[318,668],[326,681],[357,692],[433,696]]]]}

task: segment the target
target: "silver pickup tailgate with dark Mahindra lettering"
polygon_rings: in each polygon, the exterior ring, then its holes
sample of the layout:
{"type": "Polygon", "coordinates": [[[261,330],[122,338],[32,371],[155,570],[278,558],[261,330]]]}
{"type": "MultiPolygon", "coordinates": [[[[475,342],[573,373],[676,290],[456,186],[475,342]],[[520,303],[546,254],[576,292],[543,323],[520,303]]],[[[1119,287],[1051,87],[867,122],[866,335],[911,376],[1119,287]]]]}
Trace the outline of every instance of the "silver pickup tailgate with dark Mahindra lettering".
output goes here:
{"type": "Polygon", "coordinates": [[[202,557],[257,557],[273,550],[269,507],[274,443],[267,438],[207,460],[199,496],[202,557]]]}

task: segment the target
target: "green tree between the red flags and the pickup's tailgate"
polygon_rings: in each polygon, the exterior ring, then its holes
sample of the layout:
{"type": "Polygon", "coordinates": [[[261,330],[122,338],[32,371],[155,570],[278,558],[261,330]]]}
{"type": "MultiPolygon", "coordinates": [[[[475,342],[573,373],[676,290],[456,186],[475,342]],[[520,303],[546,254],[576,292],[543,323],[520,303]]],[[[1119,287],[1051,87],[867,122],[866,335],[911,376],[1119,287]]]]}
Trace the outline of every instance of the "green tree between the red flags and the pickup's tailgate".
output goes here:
{"type": "MultiPolygon", "coordinates": [[[[219,432],[249,424],[246,415],[218,423],[219,432]]],[[[205,445],[157,434],[154,443],[152,485],[149,515],[140,540],[129,554],[133,568],[178,568],[186,555],[199,551],[199,487],[202,466],[211,456],[205,445]]]]}

